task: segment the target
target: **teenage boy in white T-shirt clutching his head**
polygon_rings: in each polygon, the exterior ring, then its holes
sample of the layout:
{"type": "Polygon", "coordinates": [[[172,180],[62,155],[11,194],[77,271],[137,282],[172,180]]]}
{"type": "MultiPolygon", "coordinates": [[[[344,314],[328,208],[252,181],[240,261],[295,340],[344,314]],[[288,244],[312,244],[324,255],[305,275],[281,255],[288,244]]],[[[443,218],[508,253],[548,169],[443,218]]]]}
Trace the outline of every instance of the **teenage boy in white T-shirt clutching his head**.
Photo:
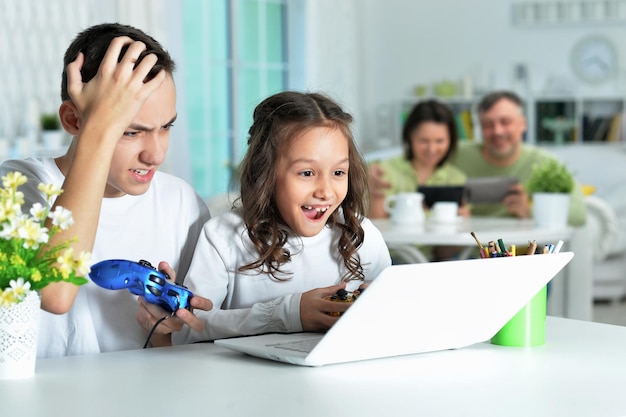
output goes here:
{"type": "MultiPolygon", "coordinates": [[[[45,203],[39,183],[58,184],[54,205],[70,210],[74,225],[50,245],[72,241],[93,262],[140,259],[184,277],[208,208],[191,186],[158,172],[176,120],[174,61],[141,30],[120,24],[92,26],[67,49],[59,118],[72,135],[58,158],[6,161],[0,174],[20,171],[26,206],[45,203]]],[[[63,356],[140,348],[146,333],[135,320],[138,303],[127,290],[92,282],[55,283],[41,291],[38,356],[63,356]]],[[[193,307],[211,302],[193,297],[193,307]]],[[[202,326],[179,310],[172,321],[202,326]]]]}

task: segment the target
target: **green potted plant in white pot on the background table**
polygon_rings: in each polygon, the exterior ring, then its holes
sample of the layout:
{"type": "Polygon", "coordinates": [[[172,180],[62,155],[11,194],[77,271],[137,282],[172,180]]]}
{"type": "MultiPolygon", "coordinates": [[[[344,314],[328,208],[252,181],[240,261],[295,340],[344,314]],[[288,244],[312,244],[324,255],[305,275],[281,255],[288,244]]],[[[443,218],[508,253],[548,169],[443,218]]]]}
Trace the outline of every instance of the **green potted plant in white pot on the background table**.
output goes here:
{"type": "Polygon", "coordinates": [[[533,202],[533,218],[538,226],[565,227],[569,215],[570,193],[574,177],[564,164],[547,159],[533,166],[526,191],[533,202]]]}

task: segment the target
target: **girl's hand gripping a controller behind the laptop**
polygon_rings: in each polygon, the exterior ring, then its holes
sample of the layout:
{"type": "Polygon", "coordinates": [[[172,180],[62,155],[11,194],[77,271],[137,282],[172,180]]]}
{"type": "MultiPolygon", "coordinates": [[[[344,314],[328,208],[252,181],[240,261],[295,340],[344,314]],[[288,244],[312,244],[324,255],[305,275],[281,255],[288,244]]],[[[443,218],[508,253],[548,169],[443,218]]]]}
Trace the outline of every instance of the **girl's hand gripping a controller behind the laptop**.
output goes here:
{"type": "Polygon", "coordinates": [[[300,322],[304,331],[328,330],[339,319],[326,313],[343,313],[350,307],[348,303],[335,303],[324,300],[324,297],[336,294],[345,289],[346,284],[333,285],[326,288],[316,288],[302,293],[300,298],[300,322]]]}

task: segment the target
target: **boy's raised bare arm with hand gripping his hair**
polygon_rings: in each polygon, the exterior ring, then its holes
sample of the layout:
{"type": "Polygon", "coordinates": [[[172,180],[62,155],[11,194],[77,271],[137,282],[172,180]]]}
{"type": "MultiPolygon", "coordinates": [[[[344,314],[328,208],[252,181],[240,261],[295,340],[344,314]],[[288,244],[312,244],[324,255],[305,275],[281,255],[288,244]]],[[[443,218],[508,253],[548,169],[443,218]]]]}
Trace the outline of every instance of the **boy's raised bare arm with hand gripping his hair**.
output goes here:
{"type": "MultiPolygon", "coordinates": [[[[162,71],[149,82],[144,82],[156,63],[156,57],[148,55],[134,68],[144,49],[142,42],[128,37],[115,38],[98,73],[87,83],[83,83],[80,73],[84,62],[82,53],[67,67],[68,92],[72,101],[62,103],[59,115],[74,140],[68,152],[57,161],[65,175],[65,182],[64,191],[56,199],[54,207],[62,206],[70,210],[74,225],[53,236],[50,246],[72,240],[75,254],[93,249],[117,142],[166,76],[162,71]],[[129,47],[118,63],[124,45],[129,47]]],[[[71,308],[77,293],[78,287],[73,284],[51,284],[41,291],[41,306],[51,313],[65,313],[71,308]]]]}

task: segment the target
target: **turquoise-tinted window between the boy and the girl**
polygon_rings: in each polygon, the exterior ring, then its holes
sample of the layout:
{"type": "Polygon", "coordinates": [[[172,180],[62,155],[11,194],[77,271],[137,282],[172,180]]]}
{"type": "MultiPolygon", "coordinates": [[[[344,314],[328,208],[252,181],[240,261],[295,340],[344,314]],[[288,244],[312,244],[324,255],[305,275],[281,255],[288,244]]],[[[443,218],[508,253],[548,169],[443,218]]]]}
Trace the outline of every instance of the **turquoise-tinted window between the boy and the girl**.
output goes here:
{"type": "Polygon", "coordinates": [[[183,55],[193,186],[229,190],[252,112],[288,84],[287,0],[185,0],[183,55]]]}

